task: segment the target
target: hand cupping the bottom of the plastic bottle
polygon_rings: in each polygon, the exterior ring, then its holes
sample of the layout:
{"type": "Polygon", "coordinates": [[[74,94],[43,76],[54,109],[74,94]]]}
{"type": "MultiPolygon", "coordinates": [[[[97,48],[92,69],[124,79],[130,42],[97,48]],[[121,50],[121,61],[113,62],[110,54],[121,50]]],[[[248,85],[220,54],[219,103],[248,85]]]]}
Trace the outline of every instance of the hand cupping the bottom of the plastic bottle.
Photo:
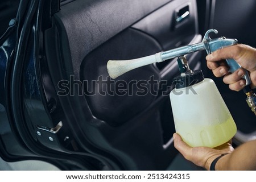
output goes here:
{"type": "Polygon", "coordinates": [[[232,145],[224,143],[216,148],[209,147],[190,147],[183,142],[179,134],[174,133],[174,147],[184,156],[185,159],[190,160],[197,166],[210,169],[210,164],[221,154],[230,153],[234,150],[232,145]]]}

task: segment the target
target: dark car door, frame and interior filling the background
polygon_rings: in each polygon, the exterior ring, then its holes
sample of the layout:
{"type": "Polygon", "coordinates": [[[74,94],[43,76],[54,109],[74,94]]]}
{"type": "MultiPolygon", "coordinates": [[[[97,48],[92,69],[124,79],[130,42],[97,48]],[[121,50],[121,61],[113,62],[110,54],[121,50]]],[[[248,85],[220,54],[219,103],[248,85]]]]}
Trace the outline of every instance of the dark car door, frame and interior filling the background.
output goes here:
{"type": "MultiPolygon", "coordinates": [[[[1,1],[0,169],[28,161],[51,166],[42,170],[204,170],[173,143],[177,58],[115,79],[106,65],[200,43],[210,28],[256,47],[255,17],[254,0],[1,1]]],[[[206,55],[186,57],[224,98],[233,146],[255,139],[245,94],[214,77],[206,55]]]]}

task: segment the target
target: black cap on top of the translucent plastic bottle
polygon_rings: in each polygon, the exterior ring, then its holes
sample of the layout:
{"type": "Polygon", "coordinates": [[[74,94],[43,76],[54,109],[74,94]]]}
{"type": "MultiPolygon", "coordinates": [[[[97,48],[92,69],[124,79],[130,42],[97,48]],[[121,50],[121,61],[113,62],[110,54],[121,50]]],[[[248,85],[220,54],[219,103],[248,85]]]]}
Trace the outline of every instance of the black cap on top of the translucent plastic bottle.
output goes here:
{"type": "Polygon", "coordinates": [[[204,80],[203,72],[200,69],[197,69],[192,73],[189,73],[188,75],[176,76],[173,80],[173,84],[175,85],[176,89],[180,89],[187,86],[195,85],[203,80],[204,80]]]}

